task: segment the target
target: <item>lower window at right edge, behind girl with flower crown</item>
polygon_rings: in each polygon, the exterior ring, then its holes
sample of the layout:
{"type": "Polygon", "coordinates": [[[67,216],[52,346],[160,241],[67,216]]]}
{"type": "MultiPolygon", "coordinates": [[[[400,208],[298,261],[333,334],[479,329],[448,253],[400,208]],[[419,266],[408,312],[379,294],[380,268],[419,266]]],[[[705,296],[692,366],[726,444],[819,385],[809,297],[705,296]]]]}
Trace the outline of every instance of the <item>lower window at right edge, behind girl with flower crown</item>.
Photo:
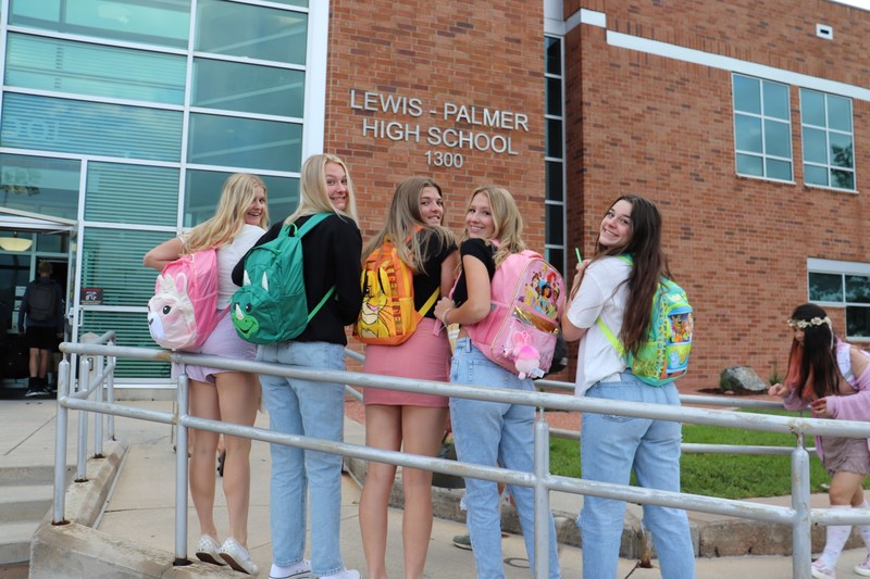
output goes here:
{"type": "Polygon", "coordinates": [[[846,337],[870,341],[870,264],[807,260],[809,300],[846,310],[846,337]]]}

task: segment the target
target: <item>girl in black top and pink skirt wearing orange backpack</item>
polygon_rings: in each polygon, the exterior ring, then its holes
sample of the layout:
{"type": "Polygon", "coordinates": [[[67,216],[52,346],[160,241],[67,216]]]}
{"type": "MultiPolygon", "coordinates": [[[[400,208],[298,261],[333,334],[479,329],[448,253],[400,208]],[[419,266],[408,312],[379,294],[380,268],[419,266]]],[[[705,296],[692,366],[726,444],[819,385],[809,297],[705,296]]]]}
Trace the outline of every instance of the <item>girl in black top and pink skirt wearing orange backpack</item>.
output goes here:
{"type": "MultiPolygon", "coordinates": [[[[393,196],[386,223],[362,251],[364,262],[380,251],[387,238],[407,240],[398,243],[397,249],[400,259],[414,272],[418,312],[434,291],[446,295],[453,285],[459,256],[453,235],[439,225],[443,215],[440,187],[425,177],[407,178],[393,196]]],[[[430,309],[407,341],[398,345],[368,344],[363,372],[449,381],[450,344],[444,332],[433,331],[435,327],[435,314],[430,309]]],[[[446,397],[365,388],[363,403],[366,446],[437,455],[447,420],[446,397]]],[[[432,473],[402,468],[401,474],[405,577],[421,579],[432,537],[432,473]]],[[[360,530],[370,579],[387,577],[387,505],[395,477],[395,465],[369,463],[360,499],[360,530]]]]}

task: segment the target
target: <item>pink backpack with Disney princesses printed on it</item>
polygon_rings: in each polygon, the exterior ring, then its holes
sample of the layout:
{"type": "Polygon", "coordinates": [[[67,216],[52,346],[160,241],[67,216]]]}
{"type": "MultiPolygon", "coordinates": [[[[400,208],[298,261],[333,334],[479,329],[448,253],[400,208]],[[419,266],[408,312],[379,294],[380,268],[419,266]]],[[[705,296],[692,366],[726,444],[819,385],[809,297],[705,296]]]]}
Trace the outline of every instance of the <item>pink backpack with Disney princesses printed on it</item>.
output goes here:
{"type": "Polygon", "coordinates": [[[549,370],[560,331],[562,276],[539,253],[512,253],[496,268],[490,293],[489,314],[465,327],[471,342],[520,378],[540,378],[549,370]]]}

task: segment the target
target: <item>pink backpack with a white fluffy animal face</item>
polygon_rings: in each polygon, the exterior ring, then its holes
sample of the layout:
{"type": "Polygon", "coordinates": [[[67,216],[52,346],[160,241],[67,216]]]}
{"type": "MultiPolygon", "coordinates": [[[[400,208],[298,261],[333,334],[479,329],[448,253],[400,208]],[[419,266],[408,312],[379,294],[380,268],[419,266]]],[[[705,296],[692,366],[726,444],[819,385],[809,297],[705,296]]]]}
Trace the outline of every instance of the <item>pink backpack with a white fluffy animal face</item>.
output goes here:
{"type": "Polygon", "coordinates": [[[208,339],[223,312],[217,311],[217,251],[182,255],[157,276],[148,300],[148,329],[163,348],[190,350],[208,339]]]}

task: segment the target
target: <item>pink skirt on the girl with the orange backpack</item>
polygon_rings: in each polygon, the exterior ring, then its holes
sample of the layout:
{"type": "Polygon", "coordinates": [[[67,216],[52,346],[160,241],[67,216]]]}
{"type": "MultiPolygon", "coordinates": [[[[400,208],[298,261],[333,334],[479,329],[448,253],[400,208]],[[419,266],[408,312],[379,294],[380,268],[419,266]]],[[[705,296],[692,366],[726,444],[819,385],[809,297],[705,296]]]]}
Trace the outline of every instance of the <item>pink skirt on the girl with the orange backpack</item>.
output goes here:
{"type": "MultiPolygon", "coordinates": [[[[444,330],[438,335],[432,333],[434,327],[435,320],[424,317],[418,324],[417,331],[405,343],[366,345],[363,372],[381,376],[449,382],[450,344],[444,330]]],[[[449,399],[366,387],[362,389],[362,401],[364,404],[446,408],[449,399]]]]}

